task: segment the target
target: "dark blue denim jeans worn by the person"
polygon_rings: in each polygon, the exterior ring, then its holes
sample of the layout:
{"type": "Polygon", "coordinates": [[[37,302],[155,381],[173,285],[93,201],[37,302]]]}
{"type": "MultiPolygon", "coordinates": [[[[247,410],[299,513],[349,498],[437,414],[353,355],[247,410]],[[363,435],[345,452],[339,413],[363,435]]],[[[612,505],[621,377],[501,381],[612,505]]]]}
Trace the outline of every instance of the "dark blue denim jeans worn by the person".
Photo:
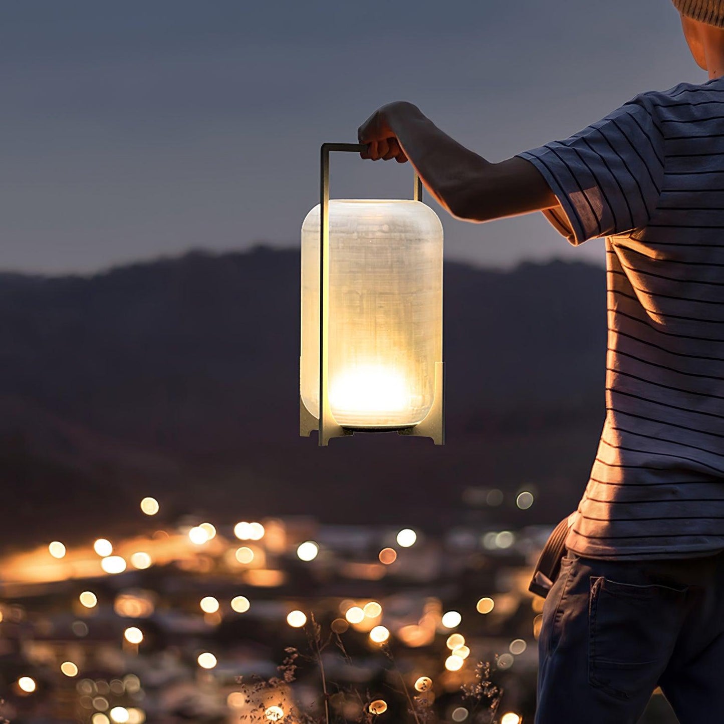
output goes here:
{"type": "Polygon", "coordinates": [[[568,551],[543,607],[536,724],[635,724],[660,686],[681,724],[724,722],[724,552],[568,551]]]}

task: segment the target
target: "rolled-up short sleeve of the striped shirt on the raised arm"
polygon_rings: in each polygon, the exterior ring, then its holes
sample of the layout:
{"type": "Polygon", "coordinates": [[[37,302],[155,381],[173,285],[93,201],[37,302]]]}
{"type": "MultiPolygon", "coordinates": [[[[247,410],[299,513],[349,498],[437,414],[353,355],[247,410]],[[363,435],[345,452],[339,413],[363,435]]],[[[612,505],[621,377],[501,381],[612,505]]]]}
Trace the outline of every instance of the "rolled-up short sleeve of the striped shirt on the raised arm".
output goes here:
{"type": "Polygon", "coordinates": [[[539,170],[560,203],[544,211],[547,219],[578,245],[647,225],[661,193],[663,144],[644,94],[571,138],[518,156],[539,170]]]}

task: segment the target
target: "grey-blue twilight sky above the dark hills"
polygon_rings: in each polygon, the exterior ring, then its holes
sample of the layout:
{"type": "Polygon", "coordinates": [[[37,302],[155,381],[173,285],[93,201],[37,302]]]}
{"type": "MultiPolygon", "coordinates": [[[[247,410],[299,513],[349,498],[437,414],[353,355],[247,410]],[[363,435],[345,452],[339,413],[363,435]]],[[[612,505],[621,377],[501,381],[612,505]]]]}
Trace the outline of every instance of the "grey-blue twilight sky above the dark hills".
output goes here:
{"type": "MultiPolygon", "coordinates": [[[[669,0],[11,0],[0,58],[0,269],[52,273],[298,246],[320,143],[355,142],[392,100],[500,161],[707,80],[669,0]]],[[[404,198],[411,180],[332,158],[332,198],[404,198]]],[[[432,206],[449,258],[603,258],[541,214],[432,206]]]]}

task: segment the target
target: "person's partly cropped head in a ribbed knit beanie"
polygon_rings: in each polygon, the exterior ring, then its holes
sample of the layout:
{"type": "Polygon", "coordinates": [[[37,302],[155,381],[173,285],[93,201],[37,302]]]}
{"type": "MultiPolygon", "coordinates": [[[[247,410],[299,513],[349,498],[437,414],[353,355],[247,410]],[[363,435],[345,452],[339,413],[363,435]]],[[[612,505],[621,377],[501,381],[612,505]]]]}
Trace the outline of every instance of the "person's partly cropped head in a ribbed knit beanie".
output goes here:
{"type": "Polygon", "coordinates": [[[710,77],[724,75],[724,0],[673,0],[696,64],[710,77]]]}

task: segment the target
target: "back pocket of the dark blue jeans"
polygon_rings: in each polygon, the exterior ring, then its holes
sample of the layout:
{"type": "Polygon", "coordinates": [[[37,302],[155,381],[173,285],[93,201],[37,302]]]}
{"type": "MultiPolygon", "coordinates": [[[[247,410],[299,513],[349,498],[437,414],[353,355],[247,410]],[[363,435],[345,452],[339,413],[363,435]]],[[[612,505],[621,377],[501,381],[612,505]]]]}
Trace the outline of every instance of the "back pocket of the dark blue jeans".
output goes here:
{"type": "Polygon", "coordinates": [[[589,683],[620,699],[653,690],[681,627],[686,591],[592,576],[589,683]]]}

